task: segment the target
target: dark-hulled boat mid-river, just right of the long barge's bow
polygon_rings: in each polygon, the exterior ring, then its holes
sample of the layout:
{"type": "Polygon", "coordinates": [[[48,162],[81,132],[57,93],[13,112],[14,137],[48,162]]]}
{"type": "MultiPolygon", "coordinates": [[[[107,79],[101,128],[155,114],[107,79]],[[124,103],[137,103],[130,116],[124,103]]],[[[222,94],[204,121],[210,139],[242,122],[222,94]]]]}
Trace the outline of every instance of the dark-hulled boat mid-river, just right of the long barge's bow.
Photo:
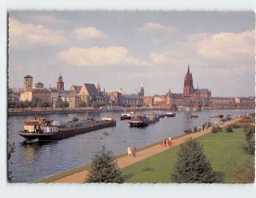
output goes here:
{"type": "Polygon", "coordinates": [[[160,121],[159,116],[143,115],[143,116],[136,116],[134,118],[131,118],[129,123],[131,127],[146,127],[149,124],[153,124],[159,121],[160,121]]]}

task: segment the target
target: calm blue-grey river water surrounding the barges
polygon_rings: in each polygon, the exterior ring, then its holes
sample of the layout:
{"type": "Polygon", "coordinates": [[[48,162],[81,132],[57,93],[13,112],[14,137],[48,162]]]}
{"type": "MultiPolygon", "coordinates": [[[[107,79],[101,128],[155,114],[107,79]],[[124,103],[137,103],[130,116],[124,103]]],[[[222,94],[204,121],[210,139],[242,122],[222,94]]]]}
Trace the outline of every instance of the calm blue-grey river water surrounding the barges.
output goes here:
{"type": "MultiPolygon", "coordinates": [[[[13,182],[28,182],[43,178],[54,173],[60,173],[74,167],[84,166],[91,162],[92,156],[102,148],[104,144],[115,155],[126,152],[129,145],[137,148],[143,145],[153,144],[168,136],[182,135],[183,131],[192,127],[198,127],[201,122],[207,122],[209,116],[218,114],[232,115],[236,117],[253,110],[202,110],[199,118],[186,119],[185,111],[177,111],[176,117],[160,118],[160,122],[148,127],[129,127],[126,121],[119,121],[120,113],[90,113],[88,116],[101,118],[103,116],[115,116],[117,126],[98,131],[80,134],[68,139],[61,139],[50,143],[24,144],[24,139],[18,132],[23,128],[23,122],[32,120],[33,116],[9,117],[9,142],[15,142],[15,153],[12,156],[10,171],[13,182]],[[108,132],[106,136],[103,133],[108,132]]],[[[158,111],[161,112],[161,111],[158,111]]],[[[52,115],[46,118],[56,121],[69,121],[74,116],[80,119],[85,114],[52,115]]],[[[212,120],[214,122],[215,120],[212,120]]]]}

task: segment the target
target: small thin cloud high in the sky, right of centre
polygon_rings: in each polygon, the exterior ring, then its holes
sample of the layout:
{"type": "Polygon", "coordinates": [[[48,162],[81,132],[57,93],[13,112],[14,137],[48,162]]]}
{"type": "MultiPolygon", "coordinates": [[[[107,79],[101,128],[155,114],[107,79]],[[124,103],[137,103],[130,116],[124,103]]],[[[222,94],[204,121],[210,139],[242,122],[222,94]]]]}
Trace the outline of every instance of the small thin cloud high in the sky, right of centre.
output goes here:
{"type": "Polygon", "coordinates": [[[142,27],[137,27],[137,30],[142,32],[148,32],[148,31],[175,32],[177,31],[177,28],[173,26],[161,25],[159,23],[148,22],[143,24],[142,27]]]}

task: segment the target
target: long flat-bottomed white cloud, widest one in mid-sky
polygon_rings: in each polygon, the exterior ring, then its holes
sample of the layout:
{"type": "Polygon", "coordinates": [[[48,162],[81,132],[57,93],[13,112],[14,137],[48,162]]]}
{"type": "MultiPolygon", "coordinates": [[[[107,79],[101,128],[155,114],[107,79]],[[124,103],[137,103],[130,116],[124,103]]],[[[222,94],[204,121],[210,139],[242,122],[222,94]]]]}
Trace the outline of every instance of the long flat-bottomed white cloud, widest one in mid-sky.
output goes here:
{"type": "Polygon", "coordinates": [[[57,54],[57,58],[78,66],[94,65],[147,65],[128,54],[124,47],[68,48],[57,54]]]}

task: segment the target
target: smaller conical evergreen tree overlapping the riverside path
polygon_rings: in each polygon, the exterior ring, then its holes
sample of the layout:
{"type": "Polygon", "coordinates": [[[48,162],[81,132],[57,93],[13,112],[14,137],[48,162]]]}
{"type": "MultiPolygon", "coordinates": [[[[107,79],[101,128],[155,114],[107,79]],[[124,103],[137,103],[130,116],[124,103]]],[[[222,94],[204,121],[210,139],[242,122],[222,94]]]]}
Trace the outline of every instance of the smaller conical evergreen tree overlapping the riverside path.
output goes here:
{"type": "Polygon", "coordinates": [[[123,183],[124,178],[114,160],[113,152],[102,146],[102,150],[92,159],[90,173],[85,178],[85,183],[123,183]]]}

